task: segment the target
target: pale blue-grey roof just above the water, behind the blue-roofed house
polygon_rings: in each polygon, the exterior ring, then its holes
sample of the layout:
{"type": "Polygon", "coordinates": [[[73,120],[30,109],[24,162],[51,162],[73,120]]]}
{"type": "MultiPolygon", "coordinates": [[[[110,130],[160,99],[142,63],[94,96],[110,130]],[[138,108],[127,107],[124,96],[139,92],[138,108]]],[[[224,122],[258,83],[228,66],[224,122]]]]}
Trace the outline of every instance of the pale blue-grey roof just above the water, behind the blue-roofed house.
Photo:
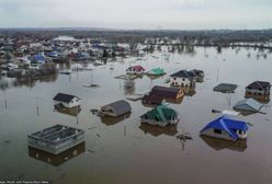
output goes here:
{"type": "Polygon", "coordinates": [[[263,105],[253,99],[245,99],[234,106],[237,111],[250,111],[250,112],[259,112],[263,105]]]}

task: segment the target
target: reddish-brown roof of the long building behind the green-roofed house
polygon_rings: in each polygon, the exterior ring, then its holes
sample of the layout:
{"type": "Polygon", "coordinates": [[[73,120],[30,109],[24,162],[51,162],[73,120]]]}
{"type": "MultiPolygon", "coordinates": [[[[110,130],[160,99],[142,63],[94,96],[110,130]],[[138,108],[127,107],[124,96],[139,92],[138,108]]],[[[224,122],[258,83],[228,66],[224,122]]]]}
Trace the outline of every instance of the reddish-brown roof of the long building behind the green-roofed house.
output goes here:
{"type": "Polygon", "coordinates": [[[155,85],[151,89],[150,94],[156,96],[162,96],[162,97],[171,97],[175,99],[177,94],[181,91],[181,89],[178,88],[168,88],[168,87],[159,87],[155,85]]]}

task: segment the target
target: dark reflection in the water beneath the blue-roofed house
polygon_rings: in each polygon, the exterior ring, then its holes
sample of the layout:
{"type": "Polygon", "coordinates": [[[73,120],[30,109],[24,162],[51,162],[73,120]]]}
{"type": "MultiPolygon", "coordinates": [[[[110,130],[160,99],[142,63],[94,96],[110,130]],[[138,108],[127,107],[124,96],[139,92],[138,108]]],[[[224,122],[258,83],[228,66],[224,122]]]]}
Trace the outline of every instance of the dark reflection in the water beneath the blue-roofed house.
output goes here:
{"type": "Polygon", "coordinates": [[[200,136],[204,142],[215,150],[229,149],[235,151],[245,151],[247,149],[247,139],[238,139],[236,141],[229,141],[224,139],[217,139],[207,136],[200,136]]]}

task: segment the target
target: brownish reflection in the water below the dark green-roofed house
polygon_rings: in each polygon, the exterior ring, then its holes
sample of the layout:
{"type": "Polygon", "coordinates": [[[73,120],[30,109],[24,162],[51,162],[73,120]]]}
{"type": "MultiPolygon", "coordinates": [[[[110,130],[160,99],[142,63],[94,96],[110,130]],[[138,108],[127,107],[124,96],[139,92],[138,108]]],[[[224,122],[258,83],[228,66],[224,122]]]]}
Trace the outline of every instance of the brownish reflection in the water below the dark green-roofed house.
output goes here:
{"type": "Polygon", "coordinates": [[[169,125],[166,127],[159,127],[148,124],[140,124],[139,129],[141,129],[145,134],[150,134],[154,137],[158,137],[160,135],[174,136],[178,133],[177,124],[169,125]]]}

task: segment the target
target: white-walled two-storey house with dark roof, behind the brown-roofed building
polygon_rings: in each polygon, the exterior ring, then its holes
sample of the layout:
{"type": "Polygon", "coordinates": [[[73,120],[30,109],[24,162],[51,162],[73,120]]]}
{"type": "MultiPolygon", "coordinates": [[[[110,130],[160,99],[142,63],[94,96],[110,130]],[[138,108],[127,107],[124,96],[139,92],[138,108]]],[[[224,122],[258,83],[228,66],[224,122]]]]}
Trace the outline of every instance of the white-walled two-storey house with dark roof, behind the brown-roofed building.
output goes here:
{"type": "Polygon", "coordinates": [[[196,76],[186,70],[180,70],[170,76],[170,84],[179,88],[195,88],[196,76]]]}

